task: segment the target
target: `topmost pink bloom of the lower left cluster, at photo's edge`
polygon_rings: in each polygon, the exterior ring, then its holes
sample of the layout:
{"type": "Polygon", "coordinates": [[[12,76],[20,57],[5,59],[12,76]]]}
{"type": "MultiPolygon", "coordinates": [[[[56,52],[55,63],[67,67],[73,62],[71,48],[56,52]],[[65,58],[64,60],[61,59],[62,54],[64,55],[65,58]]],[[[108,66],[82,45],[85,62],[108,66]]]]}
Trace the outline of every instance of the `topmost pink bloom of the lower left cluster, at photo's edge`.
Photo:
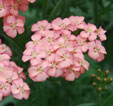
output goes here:
{"type": "Polygon", "coordinates": [[[12,51],[5,44],[0,44],[0,54],[7,54],[9,56],[12,56],[12,51]]]}

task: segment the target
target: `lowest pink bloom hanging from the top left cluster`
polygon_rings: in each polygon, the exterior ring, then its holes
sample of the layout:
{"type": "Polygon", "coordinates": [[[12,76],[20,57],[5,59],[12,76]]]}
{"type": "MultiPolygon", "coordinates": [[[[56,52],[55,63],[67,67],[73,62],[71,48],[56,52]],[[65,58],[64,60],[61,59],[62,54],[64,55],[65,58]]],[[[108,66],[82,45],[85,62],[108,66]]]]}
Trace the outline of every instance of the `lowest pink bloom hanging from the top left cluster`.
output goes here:
{"type": "Polygon", "coordinates": [[[22,34],[24,32],[24,18],[22,16],[7,16],[4,21],[4,31],[8,36],[14,38],[17,33],[22,34]]]}

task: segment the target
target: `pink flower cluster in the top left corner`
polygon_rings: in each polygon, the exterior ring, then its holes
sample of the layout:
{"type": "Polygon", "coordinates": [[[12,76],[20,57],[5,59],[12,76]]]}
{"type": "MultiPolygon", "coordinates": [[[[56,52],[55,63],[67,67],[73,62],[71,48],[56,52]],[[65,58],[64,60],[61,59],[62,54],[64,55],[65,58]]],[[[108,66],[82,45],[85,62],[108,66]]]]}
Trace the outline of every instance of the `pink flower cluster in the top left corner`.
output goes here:
{"type": "Polygon", "coordinates": [[[19,9],[25,12],[29,2],[35,0],[0,0],[0,18],[4,18],[4,32],[12,38],[24,32],[25,17],[19,15],[19,9]]]}

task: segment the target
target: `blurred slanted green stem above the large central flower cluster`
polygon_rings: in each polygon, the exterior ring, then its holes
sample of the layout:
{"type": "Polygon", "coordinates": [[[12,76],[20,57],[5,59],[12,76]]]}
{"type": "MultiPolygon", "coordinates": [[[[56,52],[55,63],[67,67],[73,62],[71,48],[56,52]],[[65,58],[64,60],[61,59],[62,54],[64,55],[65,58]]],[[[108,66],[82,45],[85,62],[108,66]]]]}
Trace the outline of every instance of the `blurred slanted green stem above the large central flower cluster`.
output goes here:
{"type": "Polygon", "coordinates": [[[55,17],[55,14],[60,10],[63,4],[64,4],[64,0],[58,1],[58,3],[56,4],[56,6],[54,7],[53,11],[49,16],[49,19],[48,19],[49,21],[51,21],[55,17]]]}

